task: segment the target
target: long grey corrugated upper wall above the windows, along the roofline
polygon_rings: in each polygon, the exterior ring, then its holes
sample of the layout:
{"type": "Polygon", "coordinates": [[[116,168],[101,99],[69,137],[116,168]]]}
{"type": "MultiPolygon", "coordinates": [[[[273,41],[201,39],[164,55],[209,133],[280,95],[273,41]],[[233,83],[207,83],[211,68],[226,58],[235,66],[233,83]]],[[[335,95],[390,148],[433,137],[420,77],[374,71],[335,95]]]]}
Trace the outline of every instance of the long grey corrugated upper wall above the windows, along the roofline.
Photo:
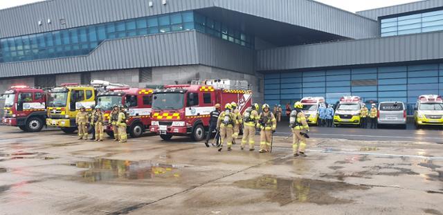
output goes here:
{"type": "Polygon", "coordinates": [[[167,0],[165,6],[152,1],[152,8],[147,0],[53,0],[0,10],[0,38],[214,6],[343,37],[377,35],[377,22],[310,0],[167,0]]]}

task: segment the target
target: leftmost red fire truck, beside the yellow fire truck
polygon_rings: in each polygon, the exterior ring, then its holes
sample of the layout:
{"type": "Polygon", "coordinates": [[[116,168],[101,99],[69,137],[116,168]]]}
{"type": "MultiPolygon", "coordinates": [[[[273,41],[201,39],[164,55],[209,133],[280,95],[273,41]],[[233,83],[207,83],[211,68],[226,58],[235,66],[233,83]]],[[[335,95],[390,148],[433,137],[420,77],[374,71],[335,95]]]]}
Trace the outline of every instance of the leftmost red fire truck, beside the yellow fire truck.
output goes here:
{"type": "Polygon", "coordinates": [[[23,131],[41,131],[46,122],[46,96],[42,89],[29,86],[11,86],[3,96],[4,124],[23,131]]]}

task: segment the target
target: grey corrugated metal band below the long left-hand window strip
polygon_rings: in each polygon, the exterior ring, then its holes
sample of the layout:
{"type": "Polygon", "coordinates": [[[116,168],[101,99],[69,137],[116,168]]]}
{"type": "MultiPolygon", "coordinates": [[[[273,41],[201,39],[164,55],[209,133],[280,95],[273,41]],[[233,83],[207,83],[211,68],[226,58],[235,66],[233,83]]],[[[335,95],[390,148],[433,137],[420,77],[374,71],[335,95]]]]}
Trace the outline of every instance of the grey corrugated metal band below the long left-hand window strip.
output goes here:
{"type": "Polygon", "coordinates": [[[0,64],[0,77],[198,64],[195,31],[114,39],[90,55],[0,64]]]}

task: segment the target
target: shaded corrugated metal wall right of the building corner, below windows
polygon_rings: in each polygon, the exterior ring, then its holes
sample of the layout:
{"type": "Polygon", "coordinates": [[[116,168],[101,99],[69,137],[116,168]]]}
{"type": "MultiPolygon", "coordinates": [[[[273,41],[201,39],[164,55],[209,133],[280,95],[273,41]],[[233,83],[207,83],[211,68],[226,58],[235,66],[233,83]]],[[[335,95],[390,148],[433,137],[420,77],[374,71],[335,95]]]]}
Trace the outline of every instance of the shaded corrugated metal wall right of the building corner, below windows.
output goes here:
{"type": "Polygon", "coordinates": [[[197,46],[200,64],[248,74],[255,73],[255,51],[251,48],[208,37],[199,32],[197,32],[197,46]]]}

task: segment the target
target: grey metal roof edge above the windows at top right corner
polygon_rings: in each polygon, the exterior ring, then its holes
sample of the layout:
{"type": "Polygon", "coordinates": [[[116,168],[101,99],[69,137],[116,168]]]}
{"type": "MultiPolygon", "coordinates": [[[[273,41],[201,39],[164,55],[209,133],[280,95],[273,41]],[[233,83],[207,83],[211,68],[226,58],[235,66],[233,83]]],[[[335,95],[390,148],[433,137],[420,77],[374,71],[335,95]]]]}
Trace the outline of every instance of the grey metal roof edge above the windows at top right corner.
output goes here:
{"type": "Polygon", "coordinates": [[[370,19],[377,20],[378,17],[395,15],[403,12],[411,12],[415,10],[426,10],[429,8],[443,7],[443,0],[426,0],[418,1],[413,3],[405,3],[399,6],[392,6],[386,8],[377,8],[373,10],[364,10],[356,12],[363,17],[368,17],[370,19]]]}

